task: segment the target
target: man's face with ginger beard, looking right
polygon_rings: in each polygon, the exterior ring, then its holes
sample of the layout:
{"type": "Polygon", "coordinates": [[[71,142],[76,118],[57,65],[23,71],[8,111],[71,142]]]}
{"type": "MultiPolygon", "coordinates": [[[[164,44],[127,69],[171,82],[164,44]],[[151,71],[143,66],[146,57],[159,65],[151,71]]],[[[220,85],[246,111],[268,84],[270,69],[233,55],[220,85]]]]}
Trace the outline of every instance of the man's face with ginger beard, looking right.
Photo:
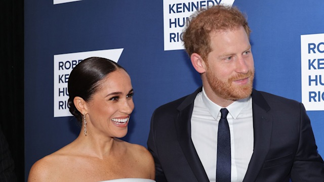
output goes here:
{"type": "Polygon", "coordinates": [[[212,33],[211,48],[212,52],[205,60],[205,79],[214,97],[231,101],[249,97],[253,87],[254,62],[244,28],[212,33]]]}

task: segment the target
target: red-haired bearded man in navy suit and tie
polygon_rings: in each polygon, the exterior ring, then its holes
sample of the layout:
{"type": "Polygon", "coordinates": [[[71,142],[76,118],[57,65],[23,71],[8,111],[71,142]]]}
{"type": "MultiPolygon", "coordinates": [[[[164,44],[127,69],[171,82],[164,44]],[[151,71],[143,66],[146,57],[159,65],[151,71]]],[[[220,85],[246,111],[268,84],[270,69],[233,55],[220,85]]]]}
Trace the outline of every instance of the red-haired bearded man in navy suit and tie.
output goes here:
{"type": "Polygon", "coordinates": [[[253,89],[246,18],[199,11],[183,41],[203,87],[157,108],[147,146],[156,181],[324,181],[303,104],[253,89]]]}

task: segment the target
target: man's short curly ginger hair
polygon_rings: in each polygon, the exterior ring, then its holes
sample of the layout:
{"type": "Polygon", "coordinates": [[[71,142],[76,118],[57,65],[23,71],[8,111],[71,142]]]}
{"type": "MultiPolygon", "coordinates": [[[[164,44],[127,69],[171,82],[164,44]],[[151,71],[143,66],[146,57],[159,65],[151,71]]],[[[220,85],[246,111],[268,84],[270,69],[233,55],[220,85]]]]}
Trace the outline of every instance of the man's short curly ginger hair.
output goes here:
{"type": "Polygon", "coordinates": [[[211,48],[211,33],[235,30],[243,26],[250,37],[250,27],[244,14],[236,7],[217,5],[200,9],[191,17],[183,32],[183,42],[189,57],[197,53],[206,60],[211,48]]]}

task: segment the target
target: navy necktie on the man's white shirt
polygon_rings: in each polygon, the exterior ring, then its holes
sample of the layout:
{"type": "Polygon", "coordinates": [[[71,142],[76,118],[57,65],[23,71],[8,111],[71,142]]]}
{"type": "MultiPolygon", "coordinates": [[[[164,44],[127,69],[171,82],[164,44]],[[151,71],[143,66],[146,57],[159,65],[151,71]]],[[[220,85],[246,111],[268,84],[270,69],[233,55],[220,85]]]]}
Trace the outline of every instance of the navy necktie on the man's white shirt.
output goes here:
{"type": "Polygon", "coordinates": [[[217,165],[216,165],[216,181],[231,181],[231,136],[227,122],[228,110],[221,109],[221,119],[218,124],[217,134],[217,165]]]}

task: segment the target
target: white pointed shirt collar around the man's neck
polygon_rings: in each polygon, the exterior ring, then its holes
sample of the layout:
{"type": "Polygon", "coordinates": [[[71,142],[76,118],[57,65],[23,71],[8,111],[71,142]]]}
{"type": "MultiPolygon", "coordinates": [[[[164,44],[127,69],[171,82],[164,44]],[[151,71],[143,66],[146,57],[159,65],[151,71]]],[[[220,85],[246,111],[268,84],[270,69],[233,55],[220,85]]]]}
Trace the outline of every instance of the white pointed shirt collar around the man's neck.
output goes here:
{"type": "MultiPolygon", "coordinates": [[[[206,93],[205,89],[203,87],[203,92],[201,92],[201,97],[203,99],[204,104],[206,105],[209,113],[214,117],[215,120],[217,120],[217,117],[219,115],[220,110],[222,109],[221,106],[215,104],[213,101],[211,101],[206,93]]],[[[244,109],[245,107],[248,107],[249,102],[252,101],[252,97],[248,97],[245,99],[240,99],[237,101],[234,101],[232,104],[226,107],[228,110],[228,113],[233,117],[233,119],[236,119],[239,113],[244,109]]]]}

